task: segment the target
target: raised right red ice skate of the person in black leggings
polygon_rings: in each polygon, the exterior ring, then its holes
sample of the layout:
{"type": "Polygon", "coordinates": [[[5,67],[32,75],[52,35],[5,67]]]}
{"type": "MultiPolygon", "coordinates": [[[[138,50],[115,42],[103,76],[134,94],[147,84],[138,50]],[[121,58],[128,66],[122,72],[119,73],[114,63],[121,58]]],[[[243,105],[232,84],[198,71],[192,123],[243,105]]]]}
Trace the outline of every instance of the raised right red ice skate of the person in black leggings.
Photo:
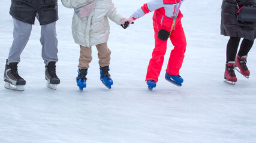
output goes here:
{"type": "Polygon", "coordinates": [[[247,58],[247,55],[244,55],[242,57],[239,57],[239,55],[237,55],[235,60],[236,62],[235,69],[239,71],[239,73],[243,74],[243,76],[245,76],[246,78],[249,78],[250,71],[246,66],[246,62],[247,62],[246,58],[247,58]],[[238,69],[236,67],[238,67],[238,69]]]}

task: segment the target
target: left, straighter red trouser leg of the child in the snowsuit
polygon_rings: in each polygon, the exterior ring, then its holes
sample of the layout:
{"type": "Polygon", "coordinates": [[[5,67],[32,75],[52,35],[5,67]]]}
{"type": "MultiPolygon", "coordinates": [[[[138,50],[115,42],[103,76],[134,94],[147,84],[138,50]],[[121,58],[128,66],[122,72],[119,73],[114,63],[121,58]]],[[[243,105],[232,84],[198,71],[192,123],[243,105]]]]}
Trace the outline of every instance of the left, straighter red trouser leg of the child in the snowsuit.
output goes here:
{"type": "Polygon", "coordinates": [[[164,63],[164,54],[167,48],[167,41],[162,41],[157,38],[158,30],[155,29],[155,48],[152,52],[152,58],[149,61],[149,66],[147,67],[147,80],[155,80],[158,82],[158,76],[162,69],[162,64],[164,63]]]}

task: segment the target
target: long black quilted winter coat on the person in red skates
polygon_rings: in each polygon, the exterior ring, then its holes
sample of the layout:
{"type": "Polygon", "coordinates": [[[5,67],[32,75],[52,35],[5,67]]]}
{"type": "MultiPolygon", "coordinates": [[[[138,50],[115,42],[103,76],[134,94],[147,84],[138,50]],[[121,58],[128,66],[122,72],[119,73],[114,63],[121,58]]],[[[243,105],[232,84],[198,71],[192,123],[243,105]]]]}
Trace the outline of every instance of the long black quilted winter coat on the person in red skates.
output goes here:
{"type": "MultiPolygon", "coordinates": [[[[237,2],[239,7],[243,5],[256,5],[256,0],[237,0],[237,2]]],[[[233,0],[222,1],[221,35],[254,41],[256,38],[256,23],[240,23],[237,20],[237,11],[236,2],[233,0]]]]}

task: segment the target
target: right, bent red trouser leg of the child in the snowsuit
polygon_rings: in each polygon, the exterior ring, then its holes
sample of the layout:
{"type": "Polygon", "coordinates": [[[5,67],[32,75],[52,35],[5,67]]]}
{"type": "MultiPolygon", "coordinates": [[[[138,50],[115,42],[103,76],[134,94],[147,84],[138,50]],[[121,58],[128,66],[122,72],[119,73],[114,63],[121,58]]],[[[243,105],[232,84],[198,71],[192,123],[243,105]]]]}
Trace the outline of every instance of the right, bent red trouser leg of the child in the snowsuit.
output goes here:
{"type": "Polygon", "coordinates": [[[166,72],[171,75],[179,74],[186,51],[186,37],[181,23],[171,32],[170,39],[174,49],[171,50],[166,72]]]}

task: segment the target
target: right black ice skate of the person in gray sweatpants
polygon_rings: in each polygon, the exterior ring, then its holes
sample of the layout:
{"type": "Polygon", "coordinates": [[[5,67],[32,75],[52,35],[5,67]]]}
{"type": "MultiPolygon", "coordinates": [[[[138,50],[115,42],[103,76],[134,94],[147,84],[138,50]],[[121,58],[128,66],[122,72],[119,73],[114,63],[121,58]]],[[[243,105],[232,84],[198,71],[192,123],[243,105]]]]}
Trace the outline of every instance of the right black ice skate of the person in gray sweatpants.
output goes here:
{"type": "Polygon", "coordinates": [[[56,75],[56,61],[48,61],[46,64],[46,86],[50,89],[57,89],[57,85],[60,83],[58,76],[56,75]]]}

